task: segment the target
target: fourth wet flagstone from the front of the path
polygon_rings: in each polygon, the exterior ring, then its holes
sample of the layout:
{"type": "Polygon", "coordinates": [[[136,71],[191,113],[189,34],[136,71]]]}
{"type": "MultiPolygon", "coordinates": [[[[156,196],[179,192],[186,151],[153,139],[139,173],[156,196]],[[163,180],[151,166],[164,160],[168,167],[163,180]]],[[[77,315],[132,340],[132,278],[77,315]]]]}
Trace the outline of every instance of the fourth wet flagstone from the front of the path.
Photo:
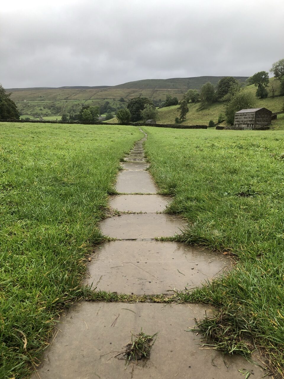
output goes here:
{"type": "Polygon", "coordinates": [[[119,195],[109,200],[109,205],[120,212],[162,212],[171,197],[161,195],[119,195]]]}

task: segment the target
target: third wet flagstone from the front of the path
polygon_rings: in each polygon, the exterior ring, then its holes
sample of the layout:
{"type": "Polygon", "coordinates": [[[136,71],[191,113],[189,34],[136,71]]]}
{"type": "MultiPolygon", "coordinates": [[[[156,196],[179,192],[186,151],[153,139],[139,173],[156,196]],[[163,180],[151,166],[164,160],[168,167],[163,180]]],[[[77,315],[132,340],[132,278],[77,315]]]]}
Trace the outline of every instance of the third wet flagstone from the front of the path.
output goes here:
{"type": "Polygon", "coordinates": [[[181,234],[186,222],[174,215],[146,213],[109,217],[100,221],[99,227],[104,235],[125,240],[181,234]]]}

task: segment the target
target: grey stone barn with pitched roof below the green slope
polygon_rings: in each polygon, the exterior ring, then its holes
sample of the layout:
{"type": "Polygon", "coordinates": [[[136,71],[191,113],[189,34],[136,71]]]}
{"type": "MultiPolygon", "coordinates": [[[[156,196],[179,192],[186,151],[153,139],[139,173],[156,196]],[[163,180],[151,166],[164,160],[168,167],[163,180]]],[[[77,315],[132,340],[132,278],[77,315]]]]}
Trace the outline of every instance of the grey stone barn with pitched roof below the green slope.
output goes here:
{"type": "Polygon", "coordinates": [[[272,111],[266,108],[242,109],[235,113],[234,129],[258,129],[271,124],[272,111]]]}

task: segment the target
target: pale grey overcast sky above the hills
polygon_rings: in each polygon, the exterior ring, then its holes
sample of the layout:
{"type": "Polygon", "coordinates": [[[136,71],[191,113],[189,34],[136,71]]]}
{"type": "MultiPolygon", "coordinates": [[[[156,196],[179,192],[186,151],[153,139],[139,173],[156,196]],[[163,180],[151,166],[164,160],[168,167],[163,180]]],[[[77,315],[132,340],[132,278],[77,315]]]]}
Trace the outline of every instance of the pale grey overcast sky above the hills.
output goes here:
{"type": "Polygon", "coordinates": [[[250,76],[284,58],[283,20],[283,0],[6,0],[0,83],[250,76]]]}

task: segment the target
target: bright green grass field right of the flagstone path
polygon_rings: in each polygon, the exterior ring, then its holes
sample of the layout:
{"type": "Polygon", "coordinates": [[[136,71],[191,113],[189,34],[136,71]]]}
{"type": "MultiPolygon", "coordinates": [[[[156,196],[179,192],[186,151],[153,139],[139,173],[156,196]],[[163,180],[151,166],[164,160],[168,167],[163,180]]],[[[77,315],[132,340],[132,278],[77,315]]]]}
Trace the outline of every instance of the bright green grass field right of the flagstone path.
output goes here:
{"type": "Polygon", "coordinates": [[[203,322],[218,348],[248,355],[255,345],[283,377],[284,131],[143,129],[150,172],[175,196],[169,212],[191,222],[180,240],[237,261],[183,299],[220,307],[203,322]]]}

